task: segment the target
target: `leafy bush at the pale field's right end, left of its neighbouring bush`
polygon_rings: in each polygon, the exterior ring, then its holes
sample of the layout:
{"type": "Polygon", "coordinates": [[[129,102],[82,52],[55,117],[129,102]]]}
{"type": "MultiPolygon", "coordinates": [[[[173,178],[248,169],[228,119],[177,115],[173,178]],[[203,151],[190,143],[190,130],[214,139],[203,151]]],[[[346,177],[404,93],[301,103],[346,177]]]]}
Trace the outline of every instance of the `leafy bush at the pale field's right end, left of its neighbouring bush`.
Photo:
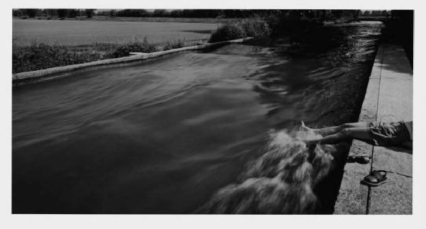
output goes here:
{"type": "Polygon", "coordinates": [[[246,32],[241,27],[241,23],[225,23],[214,31],[209,42],[219,42],[224,40],[234,40],[245,38],[246,32]]]}

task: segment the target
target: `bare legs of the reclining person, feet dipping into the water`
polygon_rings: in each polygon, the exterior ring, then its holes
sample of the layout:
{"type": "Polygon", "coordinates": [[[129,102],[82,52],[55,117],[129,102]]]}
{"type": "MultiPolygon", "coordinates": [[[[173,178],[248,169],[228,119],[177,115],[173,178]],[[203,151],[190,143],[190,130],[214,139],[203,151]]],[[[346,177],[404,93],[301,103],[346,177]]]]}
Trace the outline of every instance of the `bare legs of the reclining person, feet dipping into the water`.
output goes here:
{"type": "Polygon", "coordinates": [[[370,135],[369,123],[360,122],[360,123],[345,123],[343,125],[337,125],[332,127],[326,127],[321,129],[311,129],[308,128],[305,123],[301,123],[301,127],[305,130],[313,131],[318,133],[323,138],[315,140],[305,140],[307,145],[315,144],[337,144],[349,138],[356,138],[359,140],[372,140],[370,135]]]}

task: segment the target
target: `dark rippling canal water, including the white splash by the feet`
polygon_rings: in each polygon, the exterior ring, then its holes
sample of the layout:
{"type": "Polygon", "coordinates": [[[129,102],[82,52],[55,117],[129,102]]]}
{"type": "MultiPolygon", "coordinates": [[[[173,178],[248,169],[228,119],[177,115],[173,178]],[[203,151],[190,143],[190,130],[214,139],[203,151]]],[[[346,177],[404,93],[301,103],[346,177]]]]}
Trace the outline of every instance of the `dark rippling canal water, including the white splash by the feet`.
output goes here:
{"type": "Polygon", "coordinates": [[[327,26],[308,49],[233,44],[15,87],[13,212],[310,213],[333,150],[290,130],[356,121],[380,29],[327,26]]]}

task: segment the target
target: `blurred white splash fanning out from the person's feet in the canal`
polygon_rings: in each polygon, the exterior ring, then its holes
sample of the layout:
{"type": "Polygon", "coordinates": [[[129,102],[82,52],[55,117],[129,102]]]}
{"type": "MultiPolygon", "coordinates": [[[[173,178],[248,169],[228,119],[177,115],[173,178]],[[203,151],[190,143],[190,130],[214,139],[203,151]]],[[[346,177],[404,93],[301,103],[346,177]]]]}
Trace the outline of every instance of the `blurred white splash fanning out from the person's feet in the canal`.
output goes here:
{"type": "Polygon", "coordinates": [[[271,131],[264,154],[248,164],[238,184],[217,191],[197,213],[312,213],[315,184],[332,169],[329,147],[308,147],[312,131],[271,131]]]}

